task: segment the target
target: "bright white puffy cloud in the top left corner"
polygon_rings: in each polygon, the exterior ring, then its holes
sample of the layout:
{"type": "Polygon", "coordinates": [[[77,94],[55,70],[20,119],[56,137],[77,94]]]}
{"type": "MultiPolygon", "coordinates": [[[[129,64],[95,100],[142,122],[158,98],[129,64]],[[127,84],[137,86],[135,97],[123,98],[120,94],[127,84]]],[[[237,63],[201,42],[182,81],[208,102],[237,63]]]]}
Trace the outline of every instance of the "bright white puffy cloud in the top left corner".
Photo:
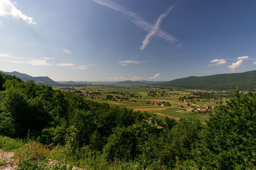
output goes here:
{"type": "Polygon", "coordinates": [[[13,18],[21,18],[28,24],[36,24],[32,17],[24,15],[13,4],[10,0],[0,0],[0,17],[12,16],[13,18]]]}

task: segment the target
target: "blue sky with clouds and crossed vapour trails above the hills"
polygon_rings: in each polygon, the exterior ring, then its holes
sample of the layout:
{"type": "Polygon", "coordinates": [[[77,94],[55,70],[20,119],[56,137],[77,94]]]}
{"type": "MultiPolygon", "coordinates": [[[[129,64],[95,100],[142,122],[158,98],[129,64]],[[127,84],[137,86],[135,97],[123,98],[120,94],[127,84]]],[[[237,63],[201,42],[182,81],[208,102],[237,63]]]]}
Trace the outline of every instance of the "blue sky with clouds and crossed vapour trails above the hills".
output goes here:
{"type": "Polygon", "coordinates": [[[0,70],[170,81],[256,69],[256,1],[0,0],[0,70]]]}

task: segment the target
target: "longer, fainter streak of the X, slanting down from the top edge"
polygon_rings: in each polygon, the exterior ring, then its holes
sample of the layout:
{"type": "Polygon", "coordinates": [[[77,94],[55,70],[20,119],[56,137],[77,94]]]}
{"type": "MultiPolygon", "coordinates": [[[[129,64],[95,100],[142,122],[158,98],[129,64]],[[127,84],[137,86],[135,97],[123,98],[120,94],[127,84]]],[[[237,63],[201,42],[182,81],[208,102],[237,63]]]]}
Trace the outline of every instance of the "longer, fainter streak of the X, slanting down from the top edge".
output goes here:
{"type": "MultiPolygon", "coordinates": [[[[124,7],[116,3],[113,3],[112,1],[109,1],[109,0],[93,0],[93,1],[103,6],[107,6],[112,10],[116,10],[116,11],[120,11],[121,13],[124,13],[124,15],[126,15],[133,24],[135,24],[137,27],[140,27],[144,31],[151,32],[153,30],[153,27],[155,27],[156,29],[156,24],[155,25],[149,24],[148,22],[145,21],[144,18],[140,17],[140,15],[137,15],[132,11],[126,10],[124,7]]],[[[174,38],[171,34],[161,29],[158,29],[158,31],[155,34],[171,43],[174,43],[175,41],[177,41],[177,39],[174,38]]]]}

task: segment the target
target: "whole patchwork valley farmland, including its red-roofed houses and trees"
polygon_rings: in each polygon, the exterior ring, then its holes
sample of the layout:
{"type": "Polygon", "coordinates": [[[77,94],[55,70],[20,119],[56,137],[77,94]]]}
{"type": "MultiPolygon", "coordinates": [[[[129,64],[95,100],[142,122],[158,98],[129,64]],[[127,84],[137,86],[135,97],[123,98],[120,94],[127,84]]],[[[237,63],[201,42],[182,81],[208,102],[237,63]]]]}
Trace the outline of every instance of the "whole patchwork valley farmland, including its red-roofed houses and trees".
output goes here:
{"type": "Polygon", "coordinates": [[[148,111],[158,117],[194,117],[205,122],[209,113],[232,95],[229,91],[204,91],[146,87],[132,85],[88,85],[83,87],[55,87],[80,94],[88,100],[122,106],[134,111],[148,111]]]}

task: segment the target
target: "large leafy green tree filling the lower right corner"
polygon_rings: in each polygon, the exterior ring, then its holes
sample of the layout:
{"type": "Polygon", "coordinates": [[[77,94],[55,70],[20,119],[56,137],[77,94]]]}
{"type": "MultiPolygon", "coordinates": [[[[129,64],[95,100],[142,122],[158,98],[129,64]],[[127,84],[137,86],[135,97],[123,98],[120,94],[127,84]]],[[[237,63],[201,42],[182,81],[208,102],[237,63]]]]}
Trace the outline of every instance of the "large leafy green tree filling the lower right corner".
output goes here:
{"type": "Polygon", "coordinates": [[[256,94],[236,92],[207,121],[195,158],[200,166],[216,169],[256,167],[256,94]]]}

